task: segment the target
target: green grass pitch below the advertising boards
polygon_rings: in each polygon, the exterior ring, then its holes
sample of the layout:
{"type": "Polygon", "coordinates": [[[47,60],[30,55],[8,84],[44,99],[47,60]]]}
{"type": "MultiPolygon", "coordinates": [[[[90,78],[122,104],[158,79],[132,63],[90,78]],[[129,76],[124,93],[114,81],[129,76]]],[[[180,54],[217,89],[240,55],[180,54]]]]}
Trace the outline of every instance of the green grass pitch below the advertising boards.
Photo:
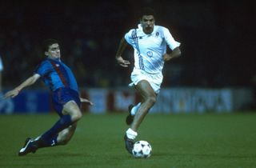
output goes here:
{"type": "Polygon", "coordinates": [[[147,115],[137,138],[153,147],[146,159],[126,152],[125,118],[125,114],[84,114],[68,145],[18,157],[24,140],[49,129],[58,116],[1,115],[0,167],[256,167],[256,113],[147,115]]]}

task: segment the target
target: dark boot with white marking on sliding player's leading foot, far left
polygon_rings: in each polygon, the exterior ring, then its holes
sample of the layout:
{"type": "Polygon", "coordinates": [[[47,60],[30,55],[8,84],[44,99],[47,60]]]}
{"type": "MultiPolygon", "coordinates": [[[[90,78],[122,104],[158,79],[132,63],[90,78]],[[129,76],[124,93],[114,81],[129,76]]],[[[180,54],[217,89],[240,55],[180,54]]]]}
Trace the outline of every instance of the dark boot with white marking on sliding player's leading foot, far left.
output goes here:
{"type": "Polygon", "coordinates": [[[25,144],[21,150],[19,150],[18,155],[24,156],[29,153],[35,153],[38,150],[38,145],[33,141],[32,138],[26,138],[25,144]]]}

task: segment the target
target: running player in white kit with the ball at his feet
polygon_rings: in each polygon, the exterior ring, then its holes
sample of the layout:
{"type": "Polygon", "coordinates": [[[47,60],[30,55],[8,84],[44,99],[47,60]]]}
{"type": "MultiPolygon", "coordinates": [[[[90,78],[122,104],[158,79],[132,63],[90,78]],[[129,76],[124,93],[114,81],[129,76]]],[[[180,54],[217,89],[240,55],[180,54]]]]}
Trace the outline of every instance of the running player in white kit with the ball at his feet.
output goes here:
{"type": "Polygon", "coordinates": [[[130,105],[130,114],[126,118],[130,128],[126,130],[126,150],[132,154],[134,139],[137,137],[138,126],[142,123],[150,108],[156,102],[162,84],[162,68],[164,62],[181,55],[180,43],[176,42],[170,31],[163,26],[156,26],[154,10],[143,8],[138,28],[130,30],[122,38],[116,60],[120,66],[128,67],[130,61],[122,58],[126,46],[134,48],[134,69],[130,75],[131,83],[142,97],[138,105],[130,105]],[[171,52],[166,53],[167,45],[171,52]]]}

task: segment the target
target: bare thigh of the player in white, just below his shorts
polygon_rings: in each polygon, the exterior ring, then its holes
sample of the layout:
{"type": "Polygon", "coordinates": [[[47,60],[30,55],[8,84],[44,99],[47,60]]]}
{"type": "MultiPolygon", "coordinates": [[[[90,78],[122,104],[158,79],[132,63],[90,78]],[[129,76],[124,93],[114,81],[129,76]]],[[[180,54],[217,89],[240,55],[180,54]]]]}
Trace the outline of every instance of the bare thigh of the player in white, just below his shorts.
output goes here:
{"type": "Polygon", "coordinates": [[[145,100],[146,98],[156,97],[152,86],[150,86],[150,82],[146,80],[142,80],[138,82],[136,85],[136,90],[142,95],[142,98],[145,100]]]}

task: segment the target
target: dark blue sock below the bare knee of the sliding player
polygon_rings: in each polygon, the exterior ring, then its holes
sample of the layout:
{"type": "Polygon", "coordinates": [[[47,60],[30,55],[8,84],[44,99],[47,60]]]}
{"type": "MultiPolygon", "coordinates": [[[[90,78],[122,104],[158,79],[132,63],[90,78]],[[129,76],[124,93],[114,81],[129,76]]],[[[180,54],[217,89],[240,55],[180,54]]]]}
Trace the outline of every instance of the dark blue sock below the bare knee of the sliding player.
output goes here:
{"type": "Polygon", "coordinates": [[[51,127],[50,130],[47,130],[46,133],[42,134],[40,139],[44,142],[43,146],[46,146],[47,144],[51,144],[53,141],[53,138],[55,138],[57,142],[58,133],[64,130],[65,128],[67,128],[68,126],[70,126],[71,124],[72,124],[71,116],[63,115],[62,118],[60,118],[58,122],[56,122],[54,126],[51,127]]]}

